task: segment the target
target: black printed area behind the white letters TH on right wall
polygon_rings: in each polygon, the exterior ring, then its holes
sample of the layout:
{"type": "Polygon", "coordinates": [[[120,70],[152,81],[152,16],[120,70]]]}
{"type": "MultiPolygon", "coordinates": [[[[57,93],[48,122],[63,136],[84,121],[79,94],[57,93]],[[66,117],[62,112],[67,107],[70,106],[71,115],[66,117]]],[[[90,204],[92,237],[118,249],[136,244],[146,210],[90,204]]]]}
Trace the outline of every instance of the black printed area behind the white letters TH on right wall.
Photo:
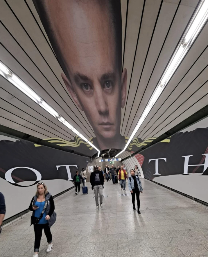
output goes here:
{"type": "Polygon", "coordinates": [[[144,177],[208,175],[208,128],[179,132],[135,155],[144,177]],[[143,158],[142,158],[143,157],[143,158]]]}

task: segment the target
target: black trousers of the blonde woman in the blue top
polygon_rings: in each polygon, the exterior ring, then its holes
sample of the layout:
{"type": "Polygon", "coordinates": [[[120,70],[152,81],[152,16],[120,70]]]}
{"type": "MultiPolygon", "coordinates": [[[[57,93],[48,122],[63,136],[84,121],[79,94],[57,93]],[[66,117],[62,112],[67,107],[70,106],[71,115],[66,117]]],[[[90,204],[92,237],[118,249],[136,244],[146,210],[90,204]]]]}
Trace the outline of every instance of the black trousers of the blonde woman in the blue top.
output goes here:
{"type": "Polygon", "coordinates": [[[46,235],[48,243],[49,244],[52,243],[52,235],[51,235],[51,229],[49,228],[49,223],[34,225],[34,231],[35,231],[34,252],[39,252],[40,240],[41,240],[41,237],[42,237],[42,230],[43,229],[44,229],[44,233],[46,235]]]}

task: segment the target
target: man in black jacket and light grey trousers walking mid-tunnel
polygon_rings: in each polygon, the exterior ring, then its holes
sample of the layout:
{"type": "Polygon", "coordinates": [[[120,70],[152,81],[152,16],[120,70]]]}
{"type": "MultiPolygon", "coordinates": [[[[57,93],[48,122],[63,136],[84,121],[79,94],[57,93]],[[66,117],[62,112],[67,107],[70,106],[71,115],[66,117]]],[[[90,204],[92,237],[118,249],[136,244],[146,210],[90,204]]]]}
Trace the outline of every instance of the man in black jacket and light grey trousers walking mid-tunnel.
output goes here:
{"type": "Polygon", "coordinates": [[[99,210],[98,193],[100,195],[100,206],[101,209],[103,209],[104,177],[103,172],[101,170],[98,170],[97,165],[94,167],[94,171],[90,175],[90,184],[92,185],[92,190],[94,189],[95,193],[96,211],[99,210]]]}

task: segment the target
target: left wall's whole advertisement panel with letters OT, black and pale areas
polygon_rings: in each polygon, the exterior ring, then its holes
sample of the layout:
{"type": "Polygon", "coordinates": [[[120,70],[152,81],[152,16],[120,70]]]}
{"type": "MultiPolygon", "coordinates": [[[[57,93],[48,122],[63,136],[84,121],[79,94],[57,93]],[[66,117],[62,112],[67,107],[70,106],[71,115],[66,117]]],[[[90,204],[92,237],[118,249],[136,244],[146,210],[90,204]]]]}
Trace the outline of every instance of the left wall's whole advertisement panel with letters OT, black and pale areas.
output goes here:
{"type": "Polygon", "coordinates": [[[86,168],[87,161],[84,156],[1,136],[0,191],[6,199],[6,219],[28,208],[40,181],[52,195],[71,188],[76,170],[86,168]]]}

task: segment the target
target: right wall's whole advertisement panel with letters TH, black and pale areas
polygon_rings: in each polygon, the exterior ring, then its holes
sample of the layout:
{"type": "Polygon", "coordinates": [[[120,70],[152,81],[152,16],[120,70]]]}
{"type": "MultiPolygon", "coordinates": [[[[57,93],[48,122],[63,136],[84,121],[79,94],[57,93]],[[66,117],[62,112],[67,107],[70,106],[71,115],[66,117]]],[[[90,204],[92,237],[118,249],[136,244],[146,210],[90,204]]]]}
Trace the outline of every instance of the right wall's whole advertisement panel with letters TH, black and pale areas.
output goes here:
{"type": "Polygon", "coordinates": [[[208,118],[132,157],[139,161],[144,177],[208,203],[205,123],[208,118]]]}

